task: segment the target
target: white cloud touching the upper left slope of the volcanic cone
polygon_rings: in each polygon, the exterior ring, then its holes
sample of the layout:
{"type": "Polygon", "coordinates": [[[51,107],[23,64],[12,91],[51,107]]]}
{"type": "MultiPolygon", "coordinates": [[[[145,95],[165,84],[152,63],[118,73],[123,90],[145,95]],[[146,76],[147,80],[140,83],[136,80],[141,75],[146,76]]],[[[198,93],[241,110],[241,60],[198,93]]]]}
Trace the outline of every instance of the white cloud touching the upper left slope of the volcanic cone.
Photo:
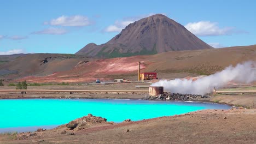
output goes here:
{"type": "MultiPolygon", "coordinates": [[[[106,28],[104,28],[104,32],[121,32],[122,29],[124,29],[127,25],[129,25],[130,23],[133,23],[137,20],[140,20],[144,17],[148,17],[148,16],[152,16],[155,15],[154,13],[150,13],[147,15],[139,15],[139,16],[133,16],[133,17],[125,17],[123,20],[117,20],[114,22],[113,25],[110,25],[106,28]]],[[[162,15],[166,15],[166,14],[162,14],[162,15]]]]}

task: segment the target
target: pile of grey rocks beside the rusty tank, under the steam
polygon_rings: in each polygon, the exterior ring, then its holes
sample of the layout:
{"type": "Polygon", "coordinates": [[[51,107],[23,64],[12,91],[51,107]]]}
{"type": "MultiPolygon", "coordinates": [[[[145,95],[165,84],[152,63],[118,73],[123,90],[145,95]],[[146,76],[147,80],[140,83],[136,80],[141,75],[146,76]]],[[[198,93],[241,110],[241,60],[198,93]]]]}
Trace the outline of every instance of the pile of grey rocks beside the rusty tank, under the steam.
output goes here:
{"type": "Polygon", "coordinates": [[[198,94],[181,94],[181,93],[164,93],[156,96],[146,95],[143,100],[181,100],[181,101],[196,101],[210,98],[207,95],[198,94]]]}

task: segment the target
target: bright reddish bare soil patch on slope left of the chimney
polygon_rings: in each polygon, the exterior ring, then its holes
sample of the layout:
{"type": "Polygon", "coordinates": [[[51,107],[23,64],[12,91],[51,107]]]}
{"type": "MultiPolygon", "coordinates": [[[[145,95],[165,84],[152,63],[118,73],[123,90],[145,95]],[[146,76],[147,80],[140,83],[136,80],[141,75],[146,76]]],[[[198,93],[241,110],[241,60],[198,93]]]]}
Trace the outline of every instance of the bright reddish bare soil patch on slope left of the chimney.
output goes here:
{"type": "MultiPolygon", "coordinates": [[[[130,58],[113,58],[113,59],[100,59],[97,61],[79,64],[71,70],[56,72],[54,74],[34,77],[28,76],[20,79],[19,81],[26,80],[27,82],[85,82],[95,81],[100,79],[98,75],[108,74],[127,74],[138,70],[138,59],[134,57],[131,61],[130,58]]],[[[145,65],[141,64],[141,69],[145,65]]],[[[108,79],[104,79],[108,80],[108,79]]]]}

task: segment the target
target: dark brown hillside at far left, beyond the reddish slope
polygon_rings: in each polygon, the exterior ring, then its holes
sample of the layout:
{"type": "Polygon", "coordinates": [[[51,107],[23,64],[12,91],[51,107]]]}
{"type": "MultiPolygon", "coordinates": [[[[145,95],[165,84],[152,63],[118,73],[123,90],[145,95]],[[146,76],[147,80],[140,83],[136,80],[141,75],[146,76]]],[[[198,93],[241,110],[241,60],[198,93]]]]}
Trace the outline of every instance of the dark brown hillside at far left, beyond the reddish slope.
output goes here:
{"type": "MultiPolygon", "coordinates": [[[[15,79],[24,76],[46,76],[56,71],[72,69],[80,61],[80,56],[70,54],[34,53],[17,57],[0,65],[0,76],[5,79],[15,79]]],[[[87,60],[89,61],[89,59],[87,60]]]]}

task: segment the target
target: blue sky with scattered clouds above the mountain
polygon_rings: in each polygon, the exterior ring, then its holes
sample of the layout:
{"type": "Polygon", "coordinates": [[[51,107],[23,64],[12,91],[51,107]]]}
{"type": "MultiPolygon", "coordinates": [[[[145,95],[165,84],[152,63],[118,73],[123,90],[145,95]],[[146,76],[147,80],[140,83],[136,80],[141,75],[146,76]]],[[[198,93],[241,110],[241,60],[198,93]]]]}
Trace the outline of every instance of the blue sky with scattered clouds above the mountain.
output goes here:
{"type": "Polygon", "coordinates": [[[214,47],[256,44],[256,1],[1,0],[0,55],[75,53],[128,23],[165,14],[214,47]]]}

